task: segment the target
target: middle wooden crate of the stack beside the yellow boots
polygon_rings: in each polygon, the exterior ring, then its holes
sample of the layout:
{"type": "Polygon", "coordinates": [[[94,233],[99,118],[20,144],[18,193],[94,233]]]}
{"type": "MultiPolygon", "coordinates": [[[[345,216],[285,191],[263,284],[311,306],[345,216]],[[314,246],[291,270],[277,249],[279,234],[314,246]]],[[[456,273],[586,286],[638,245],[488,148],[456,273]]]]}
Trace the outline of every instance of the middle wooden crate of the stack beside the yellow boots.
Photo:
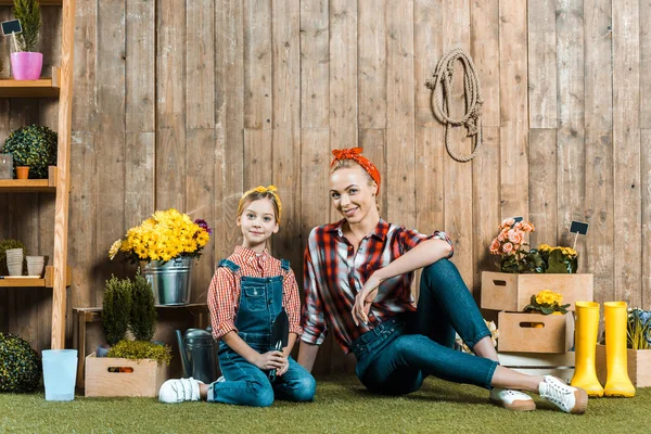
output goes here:
{"type": "Polygon", "coordinates": [[[499,312],[500,352],[567,353],[574,345],[574,316],[499,312]],[[533,324],[542,324],[536,328],[533,324]]]}

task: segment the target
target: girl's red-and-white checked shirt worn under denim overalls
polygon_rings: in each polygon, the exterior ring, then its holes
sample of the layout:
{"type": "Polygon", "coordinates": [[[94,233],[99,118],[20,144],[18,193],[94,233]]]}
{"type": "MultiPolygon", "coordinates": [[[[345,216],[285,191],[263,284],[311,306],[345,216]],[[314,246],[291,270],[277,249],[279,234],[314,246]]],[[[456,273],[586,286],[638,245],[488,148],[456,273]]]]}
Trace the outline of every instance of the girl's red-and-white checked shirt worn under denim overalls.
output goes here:
{"type": "Polygon", "coordinates": [[[280,266],[280,260],[269,255],[265,250],[263,253],[256,253],[244,246],[237,246],[229,260],[240,266],[238,272],[230,268],[219,267],[208,289],[208,308],[210,309],[210,323],[213,326],[213,335],[220,339],[235,329],[235,316],[240,306],[240,278],[242,276],[256,278],[270,278],[283,276],[282,283],[282,306],[288,312],[290,319],[290,332],[301,335],[301,299],[298,298],[298,285],[296,277],[292,269],[284,271],[280,266]]]}

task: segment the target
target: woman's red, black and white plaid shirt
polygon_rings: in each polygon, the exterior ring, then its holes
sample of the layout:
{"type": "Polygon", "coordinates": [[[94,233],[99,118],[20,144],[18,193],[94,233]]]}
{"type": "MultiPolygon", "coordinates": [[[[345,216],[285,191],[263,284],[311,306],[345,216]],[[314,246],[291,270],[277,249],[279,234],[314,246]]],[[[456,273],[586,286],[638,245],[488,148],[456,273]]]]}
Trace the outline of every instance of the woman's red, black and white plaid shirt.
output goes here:
{"type": "Polygon", "coordinates": [[[332,329],[344,353],[349,353],[350,344],[378,323],[398,312],[416,310],[411,294],[412,271],[383,281],[371,304],[369,323],[355,326],[352,314],[355,296],[373,271],[387,266],[424,240],[437,238],[450,245],[452,243],[445,232],[425,235],[380,219],[373,232],[360,241],[357,253],[354,253],[354,246],[342,232],[344,221],[320,226],[309,234],[305,250],[304,330],[301,339],[320,345],[332,329]]]}

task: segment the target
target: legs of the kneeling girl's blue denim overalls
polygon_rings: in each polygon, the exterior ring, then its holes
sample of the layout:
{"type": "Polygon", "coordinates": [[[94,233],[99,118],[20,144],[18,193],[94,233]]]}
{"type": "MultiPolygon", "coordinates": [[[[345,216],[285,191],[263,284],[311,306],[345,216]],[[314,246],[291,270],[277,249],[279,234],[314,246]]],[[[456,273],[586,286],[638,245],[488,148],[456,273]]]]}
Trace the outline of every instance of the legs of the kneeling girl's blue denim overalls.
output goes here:
{"type": "Polygon", "coordinates": [[[270,382],[267,372],[246,361],[228,345],[221,345],[226,348],[220,348],[219,367],[226,381],[210,385],[208,401],[269,407],[275,397],[297,403],[314,399],[317,391],[315,378],[292,357],[289,358],[288,371],[270,382]]]}

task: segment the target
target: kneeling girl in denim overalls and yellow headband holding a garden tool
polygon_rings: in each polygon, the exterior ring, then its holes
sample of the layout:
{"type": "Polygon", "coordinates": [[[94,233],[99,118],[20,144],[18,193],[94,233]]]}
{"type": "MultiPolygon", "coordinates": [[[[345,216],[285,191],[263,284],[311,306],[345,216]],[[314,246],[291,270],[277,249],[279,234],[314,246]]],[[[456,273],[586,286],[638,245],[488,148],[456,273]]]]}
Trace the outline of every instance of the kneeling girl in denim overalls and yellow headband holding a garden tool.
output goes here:
{"type": "Polygon", "coordinates": [[[219,263],[208,291],[213,335],[219,340],[222,379],[204,384],[192,378],[168,380],[163,403],[208,401],[268,407],[273,398],[309,401],[314,376],[290,356],[301,329],[301,302],[289,261],[272,257],[267,240],[278,232],[282,204],[273,186],[244,193],[238,206],[243,242],[219,263]],[[272,350],[272,322],[284,308],[290,322],[288,346],[272,350]],[[269,380],[269,371],[276,379],[269,380]],[[222,381],[225,380],[225,381],[222,381]]]}

